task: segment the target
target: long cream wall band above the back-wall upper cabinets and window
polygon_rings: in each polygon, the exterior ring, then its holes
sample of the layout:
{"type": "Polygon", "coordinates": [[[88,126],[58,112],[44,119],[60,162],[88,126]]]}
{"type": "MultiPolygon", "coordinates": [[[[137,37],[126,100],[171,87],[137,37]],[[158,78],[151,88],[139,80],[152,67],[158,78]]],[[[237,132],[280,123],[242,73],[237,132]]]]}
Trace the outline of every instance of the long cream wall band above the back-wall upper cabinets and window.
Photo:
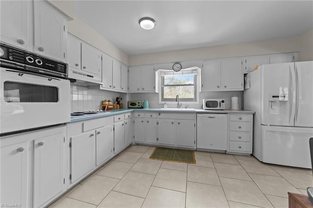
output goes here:
{"type": "Polygon", "coordinates": [[[208,60],[299,51],[299,37],[129,56],[129,65],[208,60]]]}

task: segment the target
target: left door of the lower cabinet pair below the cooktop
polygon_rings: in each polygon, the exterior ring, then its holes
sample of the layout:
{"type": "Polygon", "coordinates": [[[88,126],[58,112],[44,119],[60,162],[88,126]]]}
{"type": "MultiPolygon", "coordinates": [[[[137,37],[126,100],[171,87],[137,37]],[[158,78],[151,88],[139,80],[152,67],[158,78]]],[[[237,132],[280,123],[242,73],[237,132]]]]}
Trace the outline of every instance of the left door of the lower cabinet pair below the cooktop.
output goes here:
{"type": "Polygon", "coordinates": [[[71,138],[71,182],[73,183],[96,165],[95,132],[89,131],[71,138]]]}

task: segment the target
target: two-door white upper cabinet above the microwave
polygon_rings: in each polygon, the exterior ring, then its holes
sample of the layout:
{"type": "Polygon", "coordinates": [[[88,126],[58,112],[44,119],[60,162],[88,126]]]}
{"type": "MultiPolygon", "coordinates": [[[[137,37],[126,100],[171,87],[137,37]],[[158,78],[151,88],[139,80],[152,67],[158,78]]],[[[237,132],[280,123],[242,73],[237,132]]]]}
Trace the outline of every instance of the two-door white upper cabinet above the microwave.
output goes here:
{"type": "Polygon", "coordinates": [[[201,91],[244,90],[241,59],[203,62],[201,91]]]}

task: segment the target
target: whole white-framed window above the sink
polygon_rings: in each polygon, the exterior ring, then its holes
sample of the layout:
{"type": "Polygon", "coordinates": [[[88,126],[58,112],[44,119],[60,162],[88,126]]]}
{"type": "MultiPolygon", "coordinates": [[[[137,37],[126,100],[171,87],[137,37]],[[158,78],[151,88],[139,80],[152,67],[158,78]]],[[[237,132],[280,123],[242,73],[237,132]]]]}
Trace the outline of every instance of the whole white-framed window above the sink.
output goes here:
{"type": "Polygon", "coordinates": [[[191,67],[179,72],[160,69],[157,74],[160,104],[176,103],[176,95],[179,95],[179,101],[185,104],[199,103],[200,68],[191,67]]]}

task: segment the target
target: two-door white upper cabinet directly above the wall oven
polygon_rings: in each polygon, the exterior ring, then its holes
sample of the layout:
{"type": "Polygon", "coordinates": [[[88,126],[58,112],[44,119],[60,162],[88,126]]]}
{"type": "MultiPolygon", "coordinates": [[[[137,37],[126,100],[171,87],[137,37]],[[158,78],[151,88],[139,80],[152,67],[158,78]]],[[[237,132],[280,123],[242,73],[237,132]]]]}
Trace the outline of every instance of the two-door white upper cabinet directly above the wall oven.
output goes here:
{"type": "Polygon", "coordinates": [[[67,19],[44,1],[1,1],[0,17],[2,42],[65,62],[67,19]]]}

